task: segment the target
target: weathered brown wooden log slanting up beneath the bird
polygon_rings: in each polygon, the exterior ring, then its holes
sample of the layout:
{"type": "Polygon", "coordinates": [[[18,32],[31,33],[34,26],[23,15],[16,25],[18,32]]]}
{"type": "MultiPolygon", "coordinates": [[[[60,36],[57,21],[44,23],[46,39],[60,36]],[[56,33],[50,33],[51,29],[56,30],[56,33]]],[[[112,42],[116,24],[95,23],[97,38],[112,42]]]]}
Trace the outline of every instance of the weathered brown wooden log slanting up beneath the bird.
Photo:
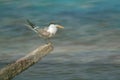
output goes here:
{"type": "Polygon", "coordinates": [[[20,74],[36,62],[38,62],[43,56],[47,55],[53,50],[51,43],[38,47],[34,51],[30,52],[25,57],[17,60],[3,69],[0,70],[0,80],[11,80],[16,75],[20,74]]]}

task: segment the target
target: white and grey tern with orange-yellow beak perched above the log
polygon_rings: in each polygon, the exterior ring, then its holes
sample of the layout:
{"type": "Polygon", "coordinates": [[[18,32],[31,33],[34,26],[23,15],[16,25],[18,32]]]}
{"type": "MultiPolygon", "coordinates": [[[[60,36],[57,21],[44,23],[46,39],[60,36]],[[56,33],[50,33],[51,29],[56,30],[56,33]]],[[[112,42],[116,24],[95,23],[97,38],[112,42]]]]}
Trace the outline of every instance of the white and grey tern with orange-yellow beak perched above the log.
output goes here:
{"type": "Polygon", "coordinates": [[[34,25],[31,21],[27,20],[27,25],[30,29],[38,33],[38,35],[44,39],[49,39],[54,37],[58,29],[63,29],[64,27],[58,24],[51,23],[48,27],[39,28],[38,26],[34,25]]]}

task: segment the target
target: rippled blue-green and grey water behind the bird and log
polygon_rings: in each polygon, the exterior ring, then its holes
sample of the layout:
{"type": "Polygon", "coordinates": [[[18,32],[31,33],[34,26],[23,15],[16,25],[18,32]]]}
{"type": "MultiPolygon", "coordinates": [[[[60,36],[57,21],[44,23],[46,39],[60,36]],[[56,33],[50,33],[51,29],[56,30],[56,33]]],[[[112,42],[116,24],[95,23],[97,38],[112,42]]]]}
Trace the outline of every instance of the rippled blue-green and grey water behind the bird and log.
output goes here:
{"type": "Polygon", "coordinates": [[[119,0],[1,0],[0,68],[43,44],[24,26],[65,26],[54,51],[13,80],[119,80],[119,0]]]}

